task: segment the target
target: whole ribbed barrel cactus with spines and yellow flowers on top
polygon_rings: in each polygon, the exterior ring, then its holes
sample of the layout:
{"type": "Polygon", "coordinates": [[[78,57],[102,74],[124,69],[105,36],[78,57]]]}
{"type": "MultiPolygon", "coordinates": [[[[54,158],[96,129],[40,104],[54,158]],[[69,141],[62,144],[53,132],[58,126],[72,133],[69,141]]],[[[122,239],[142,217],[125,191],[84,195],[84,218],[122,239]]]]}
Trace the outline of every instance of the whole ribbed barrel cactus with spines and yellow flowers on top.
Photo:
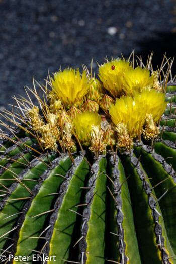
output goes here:
{"type": "Polygon", "coordinates": [[[173,61],[151,57],[60,70],[4,111],[2,263],[176,263],[173,61]]]}

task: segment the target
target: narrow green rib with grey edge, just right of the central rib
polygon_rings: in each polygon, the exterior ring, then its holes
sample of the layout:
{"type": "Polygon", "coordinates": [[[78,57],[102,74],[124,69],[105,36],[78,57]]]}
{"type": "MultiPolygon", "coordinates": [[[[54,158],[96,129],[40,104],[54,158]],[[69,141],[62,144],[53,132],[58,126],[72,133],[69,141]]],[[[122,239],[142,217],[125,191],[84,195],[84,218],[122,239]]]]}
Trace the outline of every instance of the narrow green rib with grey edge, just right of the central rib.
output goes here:
{"type": "MultiPolygon", "coordinates": [[[[118,248],[121,254],[121,262],[127,263],[135,257],[137,263],[141,263],[139,248],[135,233],[133,213],[131,208],[130,194],[128,190],[128,185],[126,182],[124,168],[122,166],[119,157],[116,157],[116,163],[114,164],[114,159],[108,158],[108,171],[114,179],[114,196],[116,199],[116,221],[118,226],[117,235],[119,236],[118,248]],[[115,188],[116,187],[116,188],[115,188]],[[129,219],[131,219],[131,224],[129,225],[129,219]],[[133,247],[133,250],[130,248],[133,247]]],[[[113,248],[114,249],[114,248],[113,248]]],[[[112,249],[112,250],[113,250],[112,249]]],[[[111,252],[113,256],[113,252],[111,252]]],[[[116,253],[116,257],[118,254],[116,253]]],[[[112,257],[111,257],[112,259],[112,257]]],[[[113,259],[117,260],[117,259],[113,259]]]]}

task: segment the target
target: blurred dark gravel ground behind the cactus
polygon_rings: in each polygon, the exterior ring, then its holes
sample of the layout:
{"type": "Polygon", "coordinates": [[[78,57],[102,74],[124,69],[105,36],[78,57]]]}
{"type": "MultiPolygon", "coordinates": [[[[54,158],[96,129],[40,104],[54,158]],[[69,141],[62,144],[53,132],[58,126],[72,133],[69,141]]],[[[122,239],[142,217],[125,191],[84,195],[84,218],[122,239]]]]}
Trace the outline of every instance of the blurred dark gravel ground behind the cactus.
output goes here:
{"type": "Polygon", "coordinates": [[[32,87],[33,75],[44,83],[60,65],[90,67],[92,57],[101,64],[133,49],[144,58],[153,50],[155,67],[165,52],[173,57],[173,7],[169,0],[0,0],[0,109],[32,87]]]}

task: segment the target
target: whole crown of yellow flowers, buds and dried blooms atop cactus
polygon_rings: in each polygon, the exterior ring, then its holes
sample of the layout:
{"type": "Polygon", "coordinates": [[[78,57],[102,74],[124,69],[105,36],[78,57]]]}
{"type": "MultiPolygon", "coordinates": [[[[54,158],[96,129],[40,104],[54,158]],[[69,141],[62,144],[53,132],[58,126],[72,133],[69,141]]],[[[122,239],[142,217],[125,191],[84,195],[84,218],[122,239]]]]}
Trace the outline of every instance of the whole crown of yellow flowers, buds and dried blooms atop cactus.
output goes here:
{"type": "Polygon", "coordinates": [[[157,137],[167,104],[157,71],[114,59],[99,66],[100,81],[87,75],[72,68],[54,73],[44,117],[37,107],[29,109],[45,148],[60,144],[73,151],[77,140],[93,152],[104,153],[107,145],[126,151],[141,134],[145,140],[157,137]]]}

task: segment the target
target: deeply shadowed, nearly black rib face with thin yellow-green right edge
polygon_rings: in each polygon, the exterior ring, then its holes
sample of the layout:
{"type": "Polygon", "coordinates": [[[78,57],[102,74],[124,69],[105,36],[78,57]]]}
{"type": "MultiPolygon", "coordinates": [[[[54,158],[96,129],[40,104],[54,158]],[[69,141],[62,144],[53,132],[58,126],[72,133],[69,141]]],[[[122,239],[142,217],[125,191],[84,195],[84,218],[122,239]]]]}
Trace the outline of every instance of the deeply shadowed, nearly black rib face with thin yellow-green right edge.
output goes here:
{"type": "MultiPolygon", "coordinates": [[[[142,182],[136,167],[131,163],[130,157],[122,155],[122,164],[128,178],[134,224],[138,240],[139,252],[142,264],[160,264],[160,250],[156,247],[156,236],[154,233],[154,220],[152,210],[148,204],[148,196],[142,187],[142,182]]],[[[137,264],[138,262],[133,263],[137,264]]]]}

